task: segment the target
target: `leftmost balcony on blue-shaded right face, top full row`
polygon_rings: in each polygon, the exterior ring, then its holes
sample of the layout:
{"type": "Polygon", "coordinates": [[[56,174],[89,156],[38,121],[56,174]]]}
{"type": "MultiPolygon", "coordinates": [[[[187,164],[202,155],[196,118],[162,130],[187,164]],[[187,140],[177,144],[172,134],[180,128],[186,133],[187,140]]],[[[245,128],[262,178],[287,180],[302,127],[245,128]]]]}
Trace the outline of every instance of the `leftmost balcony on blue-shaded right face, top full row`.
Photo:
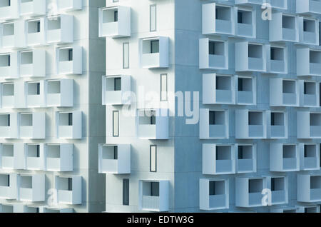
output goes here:
{"type": "Polygon", "coordinates": [[[235,8],[216,3],[203,4],[203,34],[235,34],[235,8]]]}

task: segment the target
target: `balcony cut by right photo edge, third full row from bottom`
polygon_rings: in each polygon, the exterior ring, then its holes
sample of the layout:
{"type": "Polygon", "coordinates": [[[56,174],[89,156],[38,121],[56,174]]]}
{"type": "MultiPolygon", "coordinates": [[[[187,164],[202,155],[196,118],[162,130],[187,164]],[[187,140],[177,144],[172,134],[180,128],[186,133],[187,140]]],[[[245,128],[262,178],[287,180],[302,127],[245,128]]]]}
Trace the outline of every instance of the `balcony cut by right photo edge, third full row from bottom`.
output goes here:
{"type": "Polygon", "coordinates": [[[297,111],[297,138],[321,138],[321,113],[297,111]]]}

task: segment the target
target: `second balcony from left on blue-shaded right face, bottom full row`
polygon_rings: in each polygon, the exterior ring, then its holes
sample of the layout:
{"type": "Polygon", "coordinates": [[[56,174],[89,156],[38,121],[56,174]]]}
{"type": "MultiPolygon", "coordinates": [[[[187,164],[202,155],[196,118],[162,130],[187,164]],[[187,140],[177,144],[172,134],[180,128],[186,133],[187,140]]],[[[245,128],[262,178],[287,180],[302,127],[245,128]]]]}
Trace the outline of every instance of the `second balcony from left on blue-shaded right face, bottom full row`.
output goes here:
{"type": "Polygon", "coordinates": [[[235,206],[258,207],[263,206],[261,194],[267,188],[266,178],[237,177],[235,182],[235,206]]]}

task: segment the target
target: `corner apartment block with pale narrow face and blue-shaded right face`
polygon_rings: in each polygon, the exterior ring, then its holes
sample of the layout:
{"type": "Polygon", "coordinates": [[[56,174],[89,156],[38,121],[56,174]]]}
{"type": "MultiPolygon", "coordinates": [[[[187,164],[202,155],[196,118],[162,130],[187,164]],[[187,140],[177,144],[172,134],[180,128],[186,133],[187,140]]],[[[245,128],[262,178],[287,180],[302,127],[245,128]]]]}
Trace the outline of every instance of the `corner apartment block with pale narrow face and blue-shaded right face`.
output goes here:
{"type": "Polygon", "coordinates": [[[107,0],[106,212],[320,212],[320,16],[313,0],[107,0]]]}

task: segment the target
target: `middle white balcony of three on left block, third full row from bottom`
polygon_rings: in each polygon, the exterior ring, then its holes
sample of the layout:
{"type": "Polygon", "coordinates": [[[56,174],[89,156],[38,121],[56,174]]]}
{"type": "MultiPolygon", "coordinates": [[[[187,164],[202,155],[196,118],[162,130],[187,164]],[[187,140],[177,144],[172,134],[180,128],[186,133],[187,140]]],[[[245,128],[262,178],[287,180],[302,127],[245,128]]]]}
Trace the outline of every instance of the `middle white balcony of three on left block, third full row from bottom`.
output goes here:
{"type": "Polygon", "coordinates": [[[20,138],[44,139],[46,138],[46,113],[21,113],[20,138]]]}

